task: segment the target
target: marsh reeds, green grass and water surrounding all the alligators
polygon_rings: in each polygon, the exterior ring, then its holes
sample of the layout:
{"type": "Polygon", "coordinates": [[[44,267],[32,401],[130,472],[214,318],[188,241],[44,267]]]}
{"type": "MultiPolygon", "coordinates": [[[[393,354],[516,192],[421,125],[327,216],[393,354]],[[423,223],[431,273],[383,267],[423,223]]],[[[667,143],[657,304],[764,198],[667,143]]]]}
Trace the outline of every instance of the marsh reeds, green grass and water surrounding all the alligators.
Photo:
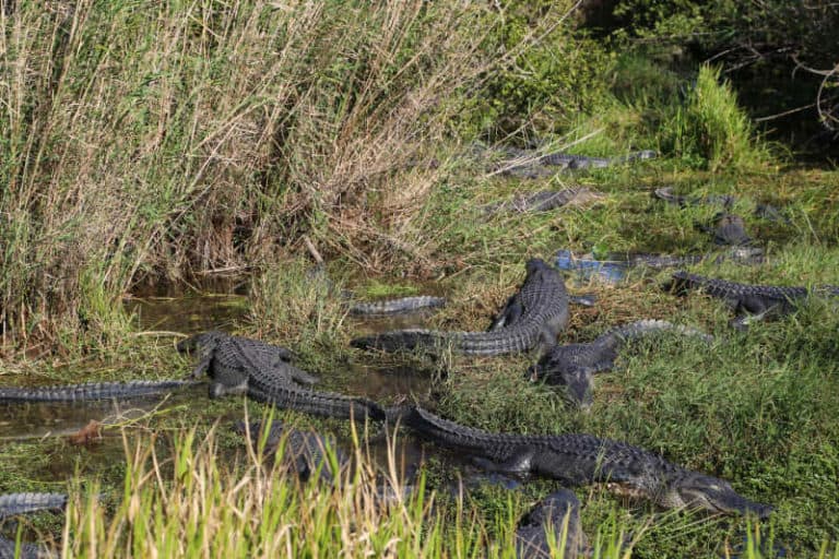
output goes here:
{"type": "MultiPolygon", "coordinates": [[[[528,381],[534,355],[348,344],[394,325],[485,330],[524,262],[560,249],[716,250],[695,224],[720,207],[666,204],[662,187],[736,195],[728,211],[767,254],[692,271],[839,285],[839,52],[825,44],[839,8],[737,4],[0,0],[0,384],[180,377],[192,362],[175,343],[218,328],[289,347],[327,390],[626,441],[775,506],[758,522],[578,488],[595,557],[839,558],[836,301],[737,332],[720,301],[663,290],[666,271],[569,273],[598,300],[571,308],[560,343],[638,319],[714,335],[629,344],[588,413],[528,381]],[[528,180],[475,155],[494,145],[660,157],[528,180]],[[598,197],[483,211],[571,187],[598,197]],[[343,289],[448,304],[364,321],[343,289]]],[[[556,489],[392,436],[203,389],[0,404],[0,492],[71,496],[66,514],[0,534],[63,557],[513,557],[518,519],[556,489]],[[265,469],[231,429],[246,414],[334,433],[357,467],[330,488],[265,469]]]]}

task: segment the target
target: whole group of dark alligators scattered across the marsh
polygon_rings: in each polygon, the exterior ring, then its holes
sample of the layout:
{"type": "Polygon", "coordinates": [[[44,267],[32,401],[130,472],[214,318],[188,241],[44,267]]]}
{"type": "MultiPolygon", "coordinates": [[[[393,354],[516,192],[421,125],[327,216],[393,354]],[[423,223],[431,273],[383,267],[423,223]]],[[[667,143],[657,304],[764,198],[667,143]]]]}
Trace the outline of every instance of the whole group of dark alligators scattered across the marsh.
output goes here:
{"type": "MultiPolygon", "coordinates": [[[[646,158],[641,152],[630,158],[646,158]]],[[[530,176],[543,165],[600,166],[607,159],[587,162],[580,156],[540,157],[516,170],[530,176]],[[555,160],[556,159],[556,160],[555,160]],[[536,166],[536,167],[534,167],[536,166]],[[530,175],[529,175],[530,174],[530,175]]],[[[577,191],[576,193],[579,193],[577,191]]],[[[700,200],[675,197],[660,189],[659,198],[677,204],[720,203],[730,206],[733,199],[700,200]]],[[[571,194],[533,198],[536,211],[552,207],[555,200],[567,203],[571,194]]],[[[522,199],[524,200],[524,199],[522,199]]],[[[495,211],[497,206],[489,210],[495,211]]],[[[516,211],[523,206],[507,206],[516,211]]],[[[773,209],[759,210],[777,216],[773,209]]],[[[742,219],[726,217],[718,227],[723,242],[743,245],[751,239],[742,229],[742,219]]],[[[746,285],[702,277],[686,272],[673,274],[671,286],[678,289],[700,289],[728,301],[742,317],[735,325],[742,326],[753,317],[783,313],[794,309],[804,297],[814,293],[804,287],[775,287],[746,285]]],[[[839,287],[827,286],[817,293],[839,296],[839,287]]],[[[539,349],[541,359],[529,369],[531,380],[544,380],[564,386],[568,401],[587,407],[592,400],[592,376],[611,368],[621,347],[629,340],[662,331],[676,331],[710,338],[686,326],[660,320],[640,320],[612,329],[590,343],[557,345],[557,336],[569,319],[569,297],[559,272],[542,260],[527,263],[527,277],[520,289],[508,300],[498,318],[486,332],[445,332],[406,329],[357,337],[352,345],[365,349],[398,350],[416,347],[440,350],[447,348],[472,356],[495,356],[539,349]]],[[[411,311],[442,305],[434,297],[412,297],[394,301],[356,304],[356,313],[387,313],[411,311]]],[[[177,346],[190,352],[198,364],[184,380],[101,382],[69,386],[37,389],[0,388],[0,403],[15,402],[74,402],[109,400],[167,393],[200,382],[204,372],[210,378],[210,397],[246,394],[277,407],[336,418],[354,418],[369,423],[402,426],[417,436],[448,449],[473,456],[487,471],[506,474],[532,474],[559,480],[566,487],[593,483],[608,483],[629,489],[664,508],[700,508],[711,512],[752,513],[766,518],[771,507],[751,501],[738,495],[726,481],[672,464],[661,455],[630,444],[600,439],[590,435],[516,435],[487,432],[456,424],[439,417],[416,404],[386,407],[377,402],[342,394],[321,392],[311,388],[318,379],[295,367],[291,350],[258,340],[210,331],[188,337],[177,346]]],[[[240,424],[239,432],[251,436],[268,428],[269,447],[275,448],[281,436],[286,437],[286,461],[302,477],[318,473],[320,479],[334,477],[324,466],[323,449],[334,441],[315,432],[286,428],[279,421],[271,426],[240,424]]],[[[256,439],[255,439],[256,440],[256,439]]],[[[348,461],[339,452],[339,462],[348,461]]],[[[16,493],[0,496],[0,520],[40,509],[64,506],[66,497],[51,493],[16,493]]],[[[586,551],[584,536],[579,522],[580,503],[568,489],[552,493],[537,503],[519,523],[517,531],[518,557],[548,557],[551,545],[546,534],[559,534],[567,523],[566,557],[586,551]]],[[[15,544],[0,538],[0,559],[13,557],[15,544]]],[[[32,544],[20,544],[21,557],[40,557],[43,550],[32,544]]]]}

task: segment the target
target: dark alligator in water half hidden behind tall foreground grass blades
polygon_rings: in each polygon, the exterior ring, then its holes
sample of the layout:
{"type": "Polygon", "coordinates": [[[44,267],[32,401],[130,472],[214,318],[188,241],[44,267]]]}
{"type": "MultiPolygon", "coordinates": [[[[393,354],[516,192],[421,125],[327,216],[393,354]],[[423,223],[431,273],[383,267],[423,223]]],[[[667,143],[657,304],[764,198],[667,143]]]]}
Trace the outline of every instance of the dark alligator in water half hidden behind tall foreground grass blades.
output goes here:
{"type": "Polygon", "coordinates": [[[270,460],[276,457],[280,443],[285,437],[281,462],[285,467],[295,472],[303,481],[307,481],[314,474],[317,474],[318,479],[326,483],[332,483],[339,476],[340,472],[333,471],[333,464],[326,454],[327,449],[330,449],[334,454],[335,466],[339,471],[350,464],[350,456],[338,447],[334,438],[323,437],[315,431],[293,429],[277,420],[271,423],[268,432],[264,432],[264,425],[261,421],[251,421],[250,424],[239,421],[234,429],[239,435],[249,435],[255,448],[264,438],[263,452],[264,456],[270,460]]]}

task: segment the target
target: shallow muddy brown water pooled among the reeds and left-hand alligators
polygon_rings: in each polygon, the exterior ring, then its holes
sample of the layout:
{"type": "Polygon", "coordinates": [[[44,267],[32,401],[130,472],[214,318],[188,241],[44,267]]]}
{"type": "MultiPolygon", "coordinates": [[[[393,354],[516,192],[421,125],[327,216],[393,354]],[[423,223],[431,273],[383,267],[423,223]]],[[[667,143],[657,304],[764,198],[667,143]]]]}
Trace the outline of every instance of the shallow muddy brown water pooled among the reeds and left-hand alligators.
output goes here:
{"type": "MultiPolygon", "coordinates": [[[[164,336],[167,333],[192,334],[210,329],[235,331],[237,323],[245,319],[247,313],[247,296],[235,284],[227,284],[222,288],[224,289],[222,293],[202,294],[147,290],[127,300],[126,307],[137,314],[140,330],[149,334],[164,336]]],[[[428,316],[429,313],[424,311],[395,317],[357,318],[354,319],[354,325],[359,332],[417,328],[427,323],[428,316]]],[[[332,385],[333,390],[377,401],[392,400],[395,395],[412,396],[420,401],[428,400],[432,388],[432,376],[428,371],[417,371],[402,365],[380,366],[362,359],[347,362],[345,367],[347,371],[341,374],[343,385],[332,385]]],[[[125,374],[125,377],[134,376],[125,374]]],[[[2,382],[24,384],[26,379],[4,377],[2,382]]],[[[225,406],[217,402],[209,402],[206,386],[203,384],[166,397],[153,396],[123,402],[0,404],[0,462],[1,456],[8,452],[16,452],[13,450],[17,448],[13,447],[14,444],[22,443],[26,445],[25,448],[34,448],[37,449],[36,452],[48,454],[46,466],[42,465],[28,472],[31,480],[63,484],[76,472],[95,476],[104,468],[125,461],[121,430],[116,427],[131,425],[132,421],[151,413],[185,418],[185,425],[190,417],[196,420],[208,418],[208,421],[220,419],[222,425],[233,424],[243,418],[240,406],[225,406]],[[217,415],[213,415],[212,411],[208,412],[208,408],[212,409],[214,406],[221,407],[217,415]],[[102,431],[103,437],[97,439],[95,444],[85,447],[70,444],[68,437],[78,433],[92,420],[106,427],[102,431]]],[[[141,420],[140,424],[142,423],[141,420]]],[[[133,429],[127,432],[130,435],[132,431],[135,432],[133,429]]],[[[428,445],[410,437],[402,436],[400,441],[399,468],[405,473],[415,471],[429,453],[444,464],[458,465],[458,469],[472,471],[459,456],[429,449],[428,445]]],[[[340,442],[350,445],[348,441],[340,442]]],[[[370,450],[376,460],[385,466],[387,463],[385,441],[374,442],[370,450]]],[[[21,464],[24,462],[25,460],[21,457],[21,464]]],[[[2,468],[0,468],[0,492],[17,489],[3,487],[2,480],[2,468]]]]}

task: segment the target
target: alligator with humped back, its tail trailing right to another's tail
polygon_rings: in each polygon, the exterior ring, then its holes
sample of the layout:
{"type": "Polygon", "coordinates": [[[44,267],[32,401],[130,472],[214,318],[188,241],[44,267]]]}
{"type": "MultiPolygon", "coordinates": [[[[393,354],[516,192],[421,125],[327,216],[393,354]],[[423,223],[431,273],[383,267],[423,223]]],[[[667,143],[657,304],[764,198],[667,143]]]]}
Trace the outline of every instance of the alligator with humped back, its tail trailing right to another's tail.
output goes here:
{"type": "Polygon", "coordinates": [[[198,349],[201,359],[190,374],[208,372],[210,397],[247,394],[253,400],[298,412],[364,420],[385,418],[378,404],[362,397],[317,392],[296,382],[311,384],[316,378],[288,362],[291,352],[257,340],[218,331],[198,334],[178,344],[179,352],[198,349]]]}

